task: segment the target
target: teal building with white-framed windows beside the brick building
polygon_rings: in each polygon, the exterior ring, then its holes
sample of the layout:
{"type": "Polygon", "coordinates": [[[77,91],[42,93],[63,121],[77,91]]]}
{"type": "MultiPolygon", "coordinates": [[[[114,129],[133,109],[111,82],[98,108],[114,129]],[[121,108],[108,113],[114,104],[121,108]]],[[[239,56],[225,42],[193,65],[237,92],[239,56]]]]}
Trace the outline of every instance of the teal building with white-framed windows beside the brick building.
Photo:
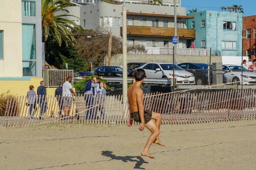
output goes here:
{"type": "MultiPolygon", "coordinates": [[[[195,29],[195,48],[221,51],[221,56],[242,55],[242,14],[222,11],[200,11],[188,16],[189,29],[195,29]]],[[[191,42],[188,42],[190,48],[191,42]]]]}

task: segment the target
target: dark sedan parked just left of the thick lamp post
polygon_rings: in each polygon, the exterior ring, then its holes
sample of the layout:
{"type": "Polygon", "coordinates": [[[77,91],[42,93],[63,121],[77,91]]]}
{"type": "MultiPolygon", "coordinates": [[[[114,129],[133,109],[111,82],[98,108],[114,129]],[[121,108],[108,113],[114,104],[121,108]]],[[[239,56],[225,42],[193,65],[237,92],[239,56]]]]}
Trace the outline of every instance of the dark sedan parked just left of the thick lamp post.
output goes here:
{"type": "Polygon", "coordinates": [[[102,77],[122,77],[122,68],[119,66],[100,66],[95,74],[102,77]]]}

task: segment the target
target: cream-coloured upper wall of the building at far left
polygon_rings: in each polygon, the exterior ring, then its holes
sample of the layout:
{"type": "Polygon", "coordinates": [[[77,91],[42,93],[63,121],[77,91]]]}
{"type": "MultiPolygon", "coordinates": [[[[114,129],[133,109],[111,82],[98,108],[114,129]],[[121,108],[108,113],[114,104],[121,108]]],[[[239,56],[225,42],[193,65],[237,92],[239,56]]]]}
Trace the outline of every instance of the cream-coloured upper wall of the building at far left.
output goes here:
{"type": "Polygon", "coordinates": [[[3,31],[3,59],[0,59],[0,77],[21,77],[21,0],[0,0],[0,31],[3,31]]]}

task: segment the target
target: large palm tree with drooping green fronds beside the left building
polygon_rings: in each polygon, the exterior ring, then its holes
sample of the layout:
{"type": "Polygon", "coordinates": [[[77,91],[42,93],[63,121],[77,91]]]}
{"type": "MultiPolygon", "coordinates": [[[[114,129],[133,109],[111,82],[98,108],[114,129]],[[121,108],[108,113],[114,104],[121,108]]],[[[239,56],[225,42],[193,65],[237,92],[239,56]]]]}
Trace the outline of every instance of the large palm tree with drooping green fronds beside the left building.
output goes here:
{"type": "Polygon", "coordinates": [[[48,35],[52,34],[60,46],[62,40],[64,40],[67,46],[69,42],[74,45],[76,39],[71,30],[77,31],[79,26],[63,17],[76,16],[69,14],[55,15],[57,11],[66,11],[69,13],[69,11],[64,9],[68,6],[73,6],[69,0],[42,0],[42,40],[44,42],[47,41],[48,35]]]}

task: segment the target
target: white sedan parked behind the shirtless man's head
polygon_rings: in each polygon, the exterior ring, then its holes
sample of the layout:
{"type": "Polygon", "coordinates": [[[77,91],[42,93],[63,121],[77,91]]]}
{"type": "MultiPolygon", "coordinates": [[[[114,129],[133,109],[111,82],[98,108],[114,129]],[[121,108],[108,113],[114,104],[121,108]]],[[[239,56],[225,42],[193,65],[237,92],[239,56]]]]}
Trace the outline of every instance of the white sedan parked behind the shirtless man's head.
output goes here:
{"type": "MultiPolygon", "coordinates": [[[[144,65],[141,65],[137,68],[143,68],[145,70],[147,78],[173,78],[173,64],[172,63],[157,63],[150,62],[144,65]]],[[[184,85],[184,84],[195,84],[195,77],[193,74],[188,71],[182,70],[177,65],[174,65],[176,84],[184,85]]]]}

